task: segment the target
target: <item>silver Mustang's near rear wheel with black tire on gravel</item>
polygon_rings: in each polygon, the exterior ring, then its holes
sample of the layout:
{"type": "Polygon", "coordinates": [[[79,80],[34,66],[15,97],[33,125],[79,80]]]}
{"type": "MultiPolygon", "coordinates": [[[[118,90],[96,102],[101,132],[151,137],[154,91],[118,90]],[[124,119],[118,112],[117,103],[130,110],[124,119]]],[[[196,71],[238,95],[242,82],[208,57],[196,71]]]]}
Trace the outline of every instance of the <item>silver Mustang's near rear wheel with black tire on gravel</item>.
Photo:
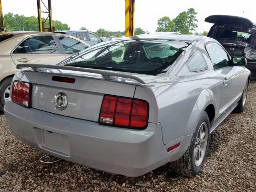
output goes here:
{"type": "Polygon", "coordinates": [[[196,176],[203,168],[208,152],[209,139],[210,121],[207,113],[204,111],[197,124],[187,151],[180,159],[171,162],[174,171],[186,177],[196,176]]]}

